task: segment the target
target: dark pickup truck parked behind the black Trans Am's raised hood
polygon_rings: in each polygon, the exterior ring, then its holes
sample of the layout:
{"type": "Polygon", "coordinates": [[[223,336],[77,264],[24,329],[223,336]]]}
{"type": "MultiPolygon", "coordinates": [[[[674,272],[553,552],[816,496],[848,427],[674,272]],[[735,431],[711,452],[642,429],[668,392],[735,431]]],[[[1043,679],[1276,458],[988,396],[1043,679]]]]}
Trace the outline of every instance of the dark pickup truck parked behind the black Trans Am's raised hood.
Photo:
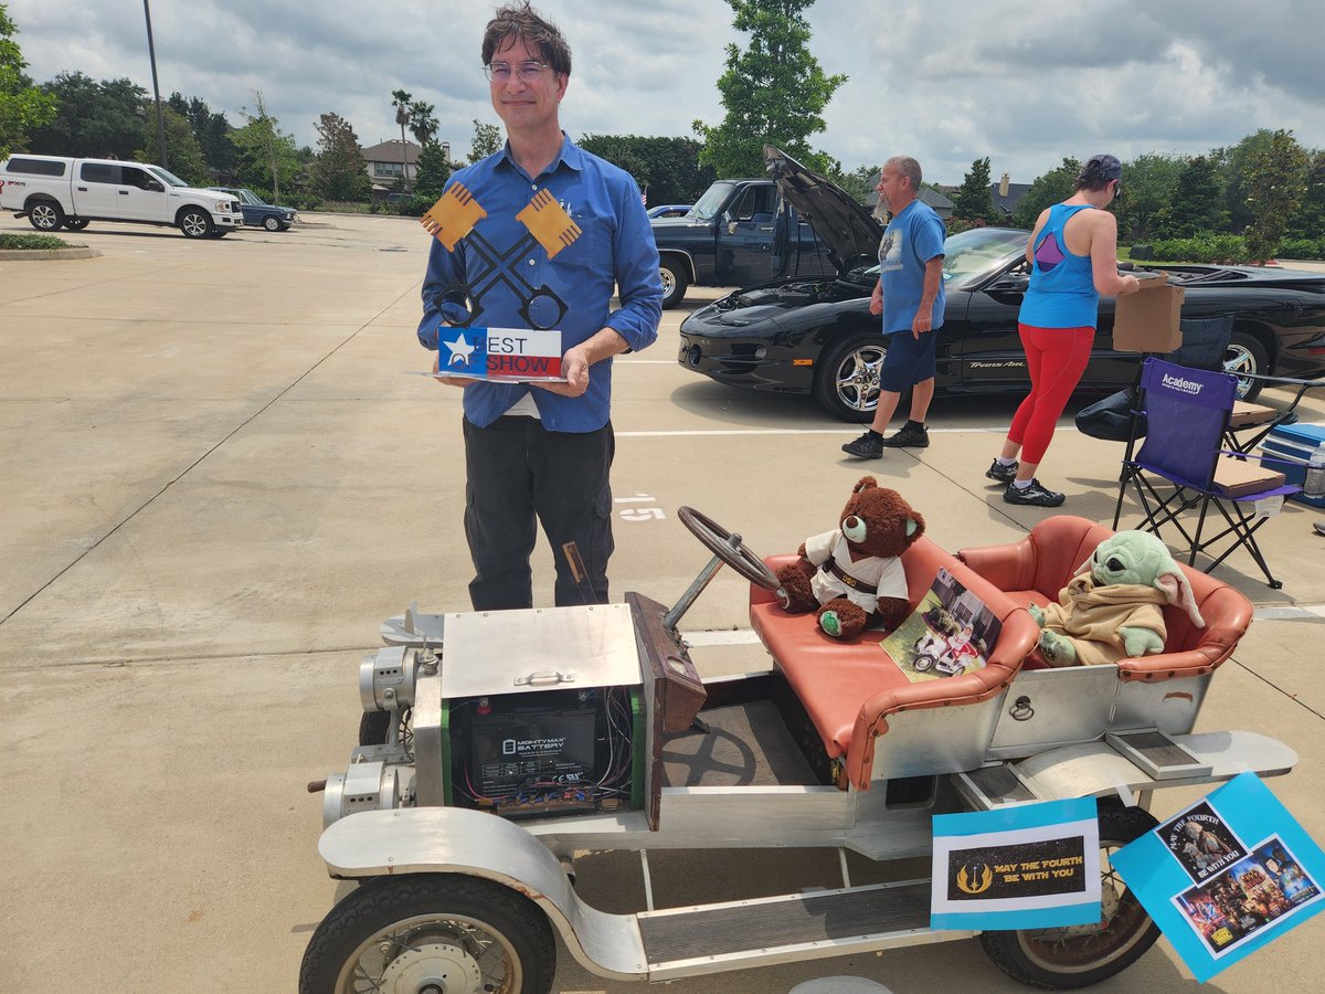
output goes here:
{"type": "Polygon", "coordinates": [[[749,286],[778,276],[835,273],[807,219],[779,200],[772,179],[719,179],[684,217],[652,221],[662,306],[689,286],[749,286]]]}

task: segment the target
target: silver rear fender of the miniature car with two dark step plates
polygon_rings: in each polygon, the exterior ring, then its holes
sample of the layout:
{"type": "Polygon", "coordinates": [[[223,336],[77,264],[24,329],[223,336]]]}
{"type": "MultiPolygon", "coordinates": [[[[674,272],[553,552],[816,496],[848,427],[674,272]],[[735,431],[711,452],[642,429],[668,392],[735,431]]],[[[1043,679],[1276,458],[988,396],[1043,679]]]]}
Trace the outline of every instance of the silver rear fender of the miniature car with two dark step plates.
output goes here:
{"type": "Polygon", "coordinates": [[[1028,801],[1222,783],[1248,771],[1280,777],[1296,765],[1297,753],[1255,732],[1166,736],[1137,729],[1110,734],[1102,742],[1063,746],[1019,762],[957,773],[951,781],[973,808],[990,811],[1028,801]]]}

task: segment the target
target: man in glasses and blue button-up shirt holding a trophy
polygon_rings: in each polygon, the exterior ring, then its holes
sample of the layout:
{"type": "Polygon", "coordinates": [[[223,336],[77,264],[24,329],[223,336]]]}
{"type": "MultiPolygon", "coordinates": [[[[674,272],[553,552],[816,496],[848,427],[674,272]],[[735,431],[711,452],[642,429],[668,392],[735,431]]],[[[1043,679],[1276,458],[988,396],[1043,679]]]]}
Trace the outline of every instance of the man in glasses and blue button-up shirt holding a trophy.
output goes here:
{"type": "Polygon", "coordinates": [[[527,4],[504,7],[488,23],[482,60],[506,144],[456,172],[425,217],[436,240],[419,323],[419,341],[439,351],[437,379],[465,391],[469,600],[476,611],[533,606],[542,524],[556,604],[607,603],[612,357],[657,337],[659,253],[635,180],[560,129],[571,52],[556,27],[527,4]],[[563,382],[448,376],[474,351],[465,329],[559,331],[563,382]]]}

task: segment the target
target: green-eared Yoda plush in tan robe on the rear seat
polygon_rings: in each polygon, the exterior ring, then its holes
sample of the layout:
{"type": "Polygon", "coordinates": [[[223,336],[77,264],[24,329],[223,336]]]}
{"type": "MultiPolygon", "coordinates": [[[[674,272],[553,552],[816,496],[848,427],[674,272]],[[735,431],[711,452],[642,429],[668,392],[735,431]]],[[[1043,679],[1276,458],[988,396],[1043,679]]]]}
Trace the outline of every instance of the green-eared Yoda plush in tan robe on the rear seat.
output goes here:
{"type": "Polygon", "coordinates": [[[1051,667],[1100,665],[1163,651],[1163,604],[1178,604],[1204,628],[1191,584],[1165,543],[1149,531],[1100,542],[1059,591],[1059,603],[1031,606],[1040,652],[1051,667]]]}

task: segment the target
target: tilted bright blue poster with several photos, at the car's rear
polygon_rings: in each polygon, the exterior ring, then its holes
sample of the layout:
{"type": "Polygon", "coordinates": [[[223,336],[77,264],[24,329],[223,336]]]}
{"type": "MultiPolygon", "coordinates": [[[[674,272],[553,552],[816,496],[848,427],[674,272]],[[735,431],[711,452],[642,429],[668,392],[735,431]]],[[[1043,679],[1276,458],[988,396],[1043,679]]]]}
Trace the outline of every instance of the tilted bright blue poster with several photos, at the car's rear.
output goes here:
{"type": "Polygon", "coordinates": [[[1325,911],[1325,852],[1251,773],[1110,861],[1200,982],[1325,911]]]}

